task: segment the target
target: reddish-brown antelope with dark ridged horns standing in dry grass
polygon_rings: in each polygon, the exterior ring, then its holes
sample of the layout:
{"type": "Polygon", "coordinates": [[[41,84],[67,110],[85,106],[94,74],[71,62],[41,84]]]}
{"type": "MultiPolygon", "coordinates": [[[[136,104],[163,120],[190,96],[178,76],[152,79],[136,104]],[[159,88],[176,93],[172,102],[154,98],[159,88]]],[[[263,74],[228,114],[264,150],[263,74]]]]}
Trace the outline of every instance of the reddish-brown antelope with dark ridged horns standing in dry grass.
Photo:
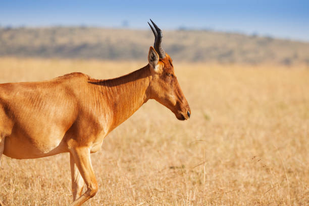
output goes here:
{"type": "Polygon", "coordinates": [[[135,72],[108,80],[71,73],[49,81],[0,84],[0,159],[2,154],[34,159],[69,153],[70,205],[81,205],[98,190],[90,153],[145,102],[155,99],[177,119],[188,119],[191,110],[161,46],[162,31],[150,21],[155,43],[148,64],[135,72]]]}

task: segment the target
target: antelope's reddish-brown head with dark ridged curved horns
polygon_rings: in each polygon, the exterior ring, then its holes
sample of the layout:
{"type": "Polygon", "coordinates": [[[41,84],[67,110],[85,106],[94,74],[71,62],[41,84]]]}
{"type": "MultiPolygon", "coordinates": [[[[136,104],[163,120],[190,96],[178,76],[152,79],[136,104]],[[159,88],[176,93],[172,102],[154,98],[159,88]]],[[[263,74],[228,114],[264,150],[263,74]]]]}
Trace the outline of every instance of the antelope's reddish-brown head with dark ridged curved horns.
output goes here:
{"type": "MultiPolygon", "coordinates": [[[[151,19],[150,19],[151,21],[151,19]]],[[[148,62],[151,73],[150,98],[169,108],[179,120],[190,118],[189,104],[177,81],[172,58],[161,47],[162,31],[153,23],[149,26],[155,35],[154,47],[150,46],[148,62]]]]}

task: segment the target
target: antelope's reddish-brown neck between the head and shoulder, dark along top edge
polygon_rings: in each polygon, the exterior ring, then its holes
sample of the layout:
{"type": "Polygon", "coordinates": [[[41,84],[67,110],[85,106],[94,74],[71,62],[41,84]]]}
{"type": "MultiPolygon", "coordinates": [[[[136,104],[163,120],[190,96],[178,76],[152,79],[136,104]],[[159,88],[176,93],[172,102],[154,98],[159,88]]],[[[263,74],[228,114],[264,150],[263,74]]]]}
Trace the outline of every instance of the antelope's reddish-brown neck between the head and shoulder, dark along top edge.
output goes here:
{"type": "Polygon", "coordinates": [[[101,81],[101,93],[110,110],[113,130],[128,119],[149,98],[147,89],[150,82],[149,66],[140,68],[128,75],[101,81]]]}

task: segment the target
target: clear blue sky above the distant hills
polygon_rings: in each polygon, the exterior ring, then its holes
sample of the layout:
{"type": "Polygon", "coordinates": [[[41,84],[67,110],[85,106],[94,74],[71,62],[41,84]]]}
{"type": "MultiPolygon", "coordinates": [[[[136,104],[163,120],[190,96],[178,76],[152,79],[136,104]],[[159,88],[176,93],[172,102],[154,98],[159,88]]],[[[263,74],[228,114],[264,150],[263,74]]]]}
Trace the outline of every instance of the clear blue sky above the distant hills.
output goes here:
{"type": "Polygon", "coordinates": [[[1,1],[0,26],[187,27],[309,41],[309,1],[1,1]]]}

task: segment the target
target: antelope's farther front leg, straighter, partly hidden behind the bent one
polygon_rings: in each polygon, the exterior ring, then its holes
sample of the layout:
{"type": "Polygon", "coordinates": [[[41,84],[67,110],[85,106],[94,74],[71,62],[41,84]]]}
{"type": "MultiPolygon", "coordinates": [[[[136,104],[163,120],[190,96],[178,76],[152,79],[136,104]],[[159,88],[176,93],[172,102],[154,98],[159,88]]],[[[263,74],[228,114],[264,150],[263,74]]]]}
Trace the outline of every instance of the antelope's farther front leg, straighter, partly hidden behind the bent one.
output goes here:
{"type": "Polygon", "coordinates": [[[72,193],[73,193],[73,201],[80,197],[83,188],[84,188],[84,180],[75,164],[74,157],[70,153],[70,165],[71,165],[71,177],[72,177],[72,193]]]}

